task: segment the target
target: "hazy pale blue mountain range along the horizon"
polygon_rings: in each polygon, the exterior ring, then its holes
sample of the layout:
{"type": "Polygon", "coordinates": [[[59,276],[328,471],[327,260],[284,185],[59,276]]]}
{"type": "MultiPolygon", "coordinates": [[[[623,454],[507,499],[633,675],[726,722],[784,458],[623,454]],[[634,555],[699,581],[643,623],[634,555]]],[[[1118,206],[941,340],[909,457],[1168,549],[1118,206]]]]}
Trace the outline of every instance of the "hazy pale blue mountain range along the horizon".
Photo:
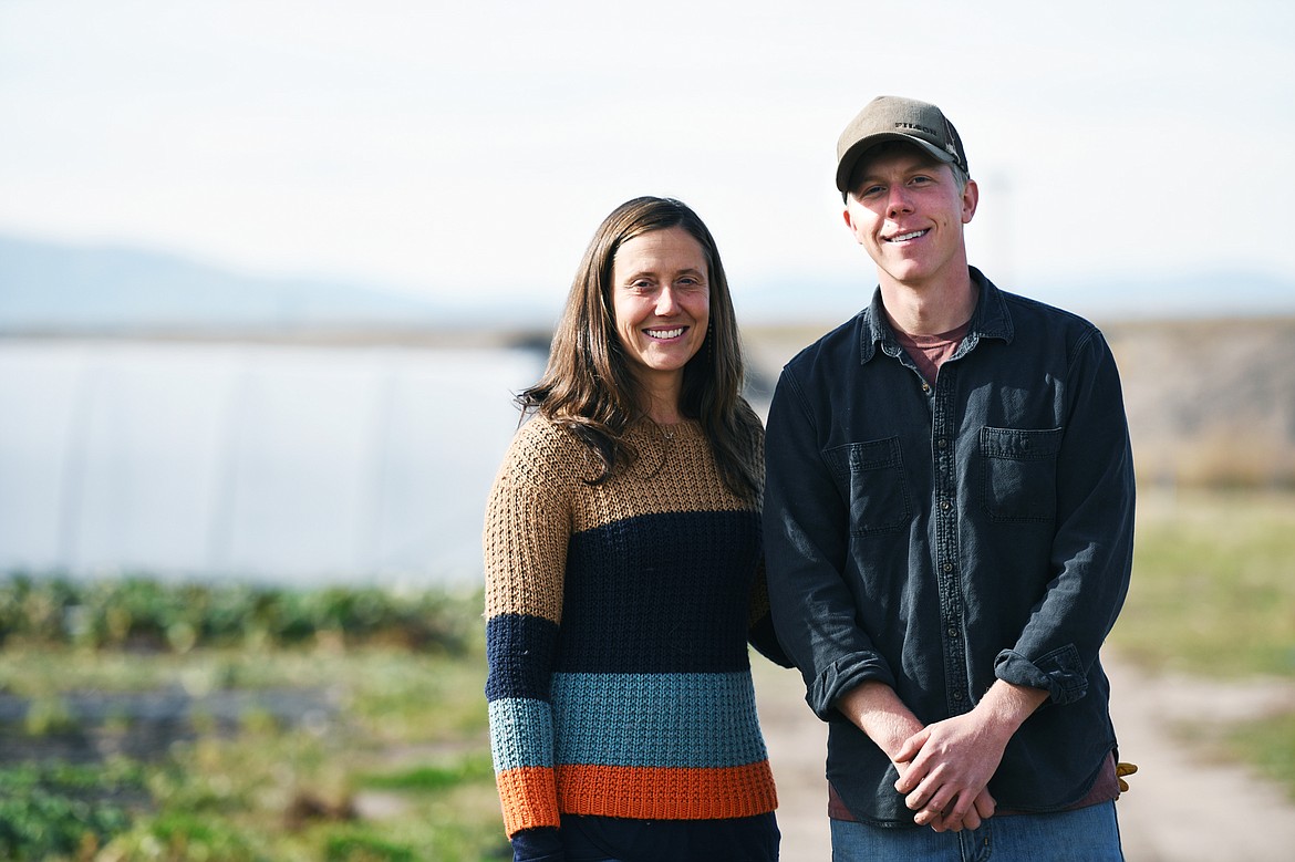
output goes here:
{"type": "MultiPolygon", "coordinates": [[[[747,286],[734,302],[745,322],[842,320],[872,294],[872,282],[860,276],[857,281],[795,285],[794,290],[747,286]]],[[[1142,280],[1116,274],[1037,287],[1019,290],[1098,320],[1295,313],[1295,282],[1257,274],[1142,280]]],[[[506,329],[550,326],[557,316],[557,308],[515,299],[469,307],[364,285],[243,274],[155,251],[0,237],[3,333],[506,329]]]]}

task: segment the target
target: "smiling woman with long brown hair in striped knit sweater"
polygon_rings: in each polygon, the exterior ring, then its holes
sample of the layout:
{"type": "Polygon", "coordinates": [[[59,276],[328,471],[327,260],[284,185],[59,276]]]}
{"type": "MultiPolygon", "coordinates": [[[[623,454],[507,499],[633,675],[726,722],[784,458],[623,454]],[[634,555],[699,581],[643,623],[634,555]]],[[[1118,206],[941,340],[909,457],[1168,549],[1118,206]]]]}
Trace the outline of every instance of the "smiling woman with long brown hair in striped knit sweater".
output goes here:
{"type": "Polygon", "coordinates": [[[776,859],[746,642],[763,430],[719,251],[637,198],[589,243],[486,515],[491,744],[514,859],[776,859]]]}

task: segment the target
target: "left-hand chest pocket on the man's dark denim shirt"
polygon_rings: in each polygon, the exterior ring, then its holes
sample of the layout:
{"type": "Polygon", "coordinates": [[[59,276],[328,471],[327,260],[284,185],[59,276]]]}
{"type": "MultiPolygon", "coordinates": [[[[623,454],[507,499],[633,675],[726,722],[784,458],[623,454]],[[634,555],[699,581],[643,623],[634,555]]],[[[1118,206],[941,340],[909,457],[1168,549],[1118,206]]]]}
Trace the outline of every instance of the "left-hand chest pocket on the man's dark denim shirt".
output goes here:
{"type": "Polygon", "coordinates": [[[899,437],[847,443],[822,454],[850,503],[851,536],[897,532],[913,519],[899,437]]]}

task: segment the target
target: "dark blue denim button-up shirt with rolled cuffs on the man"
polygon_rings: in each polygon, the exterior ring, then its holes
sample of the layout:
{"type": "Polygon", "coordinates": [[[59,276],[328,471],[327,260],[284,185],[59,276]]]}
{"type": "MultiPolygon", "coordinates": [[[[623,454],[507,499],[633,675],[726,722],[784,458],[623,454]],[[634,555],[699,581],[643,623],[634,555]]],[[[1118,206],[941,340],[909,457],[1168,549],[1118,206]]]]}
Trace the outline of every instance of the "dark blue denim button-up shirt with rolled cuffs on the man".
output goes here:
{"type": "Polygon", "coordinates": [[[782,370],[764,522],[778,637],[829,722],[828,778],[910,824],[886,755],[834,704],[888,683],[930,724],[996,678],[1044,689],[989,782],[1002,809],[1080,800],[1115,747],[1098,661],[1128,589],[1133,462],[1115,361],[1089,322],[978,271],[934,386],[869,308],[782,370]]]}

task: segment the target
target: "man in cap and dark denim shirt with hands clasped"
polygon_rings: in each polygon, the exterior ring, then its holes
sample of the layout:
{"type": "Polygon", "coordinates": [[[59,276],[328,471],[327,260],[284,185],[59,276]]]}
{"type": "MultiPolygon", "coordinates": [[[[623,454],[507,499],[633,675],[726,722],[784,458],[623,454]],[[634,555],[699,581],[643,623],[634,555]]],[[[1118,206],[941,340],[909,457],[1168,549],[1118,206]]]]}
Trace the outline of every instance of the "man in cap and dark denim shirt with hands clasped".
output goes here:
{"type": "Polygon", "coordinates": [[[829,724],[834,858],[1120,859],[1110,349],[967,265],[979,190],[940,109],[879,97],[837,155],[879,286],[782,370],[764,510],[778,637],[829,724]]]}

